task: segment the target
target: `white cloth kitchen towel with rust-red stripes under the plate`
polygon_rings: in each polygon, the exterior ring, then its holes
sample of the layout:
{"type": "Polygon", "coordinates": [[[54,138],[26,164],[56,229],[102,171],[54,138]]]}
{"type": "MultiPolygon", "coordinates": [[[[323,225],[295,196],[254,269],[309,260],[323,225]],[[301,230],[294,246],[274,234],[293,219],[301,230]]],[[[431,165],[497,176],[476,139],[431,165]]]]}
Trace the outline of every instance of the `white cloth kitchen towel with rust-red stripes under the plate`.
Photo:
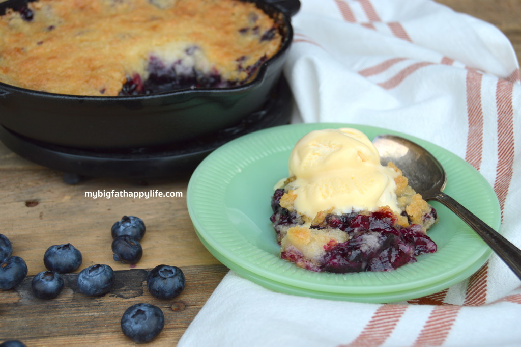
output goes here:
{"type": "MultiPolygon", "coordinates": [[[[429,0],[302,0],[284,75],[294,122],[402,131],[472,164],[521,246],[521,83],[494,26],[429,0]]],[[[521,346],[521,282],[493,255],[427,297],[365,304],[275,293],[230,271],[179,341],[192,346],[521,346]]]]}

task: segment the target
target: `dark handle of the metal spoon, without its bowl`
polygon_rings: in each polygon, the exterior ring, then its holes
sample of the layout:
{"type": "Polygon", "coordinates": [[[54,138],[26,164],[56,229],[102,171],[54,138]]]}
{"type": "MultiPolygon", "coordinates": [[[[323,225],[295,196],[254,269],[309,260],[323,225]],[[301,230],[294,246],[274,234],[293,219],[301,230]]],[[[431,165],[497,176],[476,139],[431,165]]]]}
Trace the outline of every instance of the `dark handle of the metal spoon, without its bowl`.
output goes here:
{"type": "Polygon", "coordinates": [[[445,193],[433,194],[431,199],[441,202],[465,221],[521,279],[521,250],[519,248],[445,193]]]}

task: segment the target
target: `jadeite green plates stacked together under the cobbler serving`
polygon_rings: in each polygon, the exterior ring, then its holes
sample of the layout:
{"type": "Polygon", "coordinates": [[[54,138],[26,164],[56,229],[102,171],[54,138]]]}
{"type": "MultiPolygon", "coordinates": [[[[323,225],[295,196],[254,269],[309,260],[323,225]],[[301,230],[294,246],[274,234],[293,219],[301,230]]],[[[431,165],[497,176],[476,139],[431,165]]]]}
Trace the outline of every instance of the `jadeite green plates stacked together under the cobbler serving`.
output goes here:
{"type": "Polygon", "coordinates": [[[353,127],[370,139],[396,134],[425,147],[448,175],[444,192],[499,230],[500,209],[492,188],[461,158],[419,138],[353,124],[296,124],[269,128],[218,148],[197,167],[188,185],[188,211],[201,242],[222,264],[271,290],[332,300],[388,303],[436,293],[476,272],[490,248],[449,209],[432,202],[440,222],[429,231],[433,254],[387,272],[328,273],[296,267],[279,258],[271,227],[270,197],[288,175],[295,142],[309,131],[353,127]]]}

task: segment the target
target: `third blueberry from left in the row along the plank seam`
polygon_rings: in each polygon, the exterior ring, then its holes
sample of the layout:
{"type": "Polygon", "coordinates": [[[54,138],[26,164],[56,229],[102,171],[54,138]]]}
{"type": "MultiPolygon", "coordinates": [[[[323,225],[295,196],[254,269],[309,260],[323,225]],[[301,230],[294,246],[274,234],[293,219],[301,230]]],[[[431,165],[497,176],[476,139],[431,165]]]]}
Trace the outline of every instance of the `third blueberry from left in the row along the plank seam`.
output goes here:
{"type": "Polygon", "coordinates": [[[116,277],[108,265],[92,265],[78,274],[78,289],[85,295],[100,296],[109,292],[116,277]]]}

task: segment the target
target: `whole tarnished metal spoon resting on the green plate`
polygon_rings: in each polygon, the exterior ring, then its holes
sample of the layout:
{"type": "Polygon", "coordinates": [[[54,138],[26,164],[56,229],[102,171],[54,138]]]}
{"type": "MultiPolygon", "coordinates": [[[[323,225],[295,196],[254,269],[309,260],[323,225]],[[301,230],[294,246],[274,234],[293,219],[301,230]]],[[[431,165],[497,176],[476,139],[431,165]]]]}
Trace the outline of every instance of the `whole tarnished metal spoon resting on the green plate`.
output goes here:
{"type": "Polygon", "coordinates": [[[392,161],[408,178],[409,185],[425,200],[441,202],[465,221],[521,279],[521,250],[456,200],[442,193],[447,177],[440,162],[431,153],[410,140],[394,135],[379,135],[373,143],[383,165],[392,161]]]}

